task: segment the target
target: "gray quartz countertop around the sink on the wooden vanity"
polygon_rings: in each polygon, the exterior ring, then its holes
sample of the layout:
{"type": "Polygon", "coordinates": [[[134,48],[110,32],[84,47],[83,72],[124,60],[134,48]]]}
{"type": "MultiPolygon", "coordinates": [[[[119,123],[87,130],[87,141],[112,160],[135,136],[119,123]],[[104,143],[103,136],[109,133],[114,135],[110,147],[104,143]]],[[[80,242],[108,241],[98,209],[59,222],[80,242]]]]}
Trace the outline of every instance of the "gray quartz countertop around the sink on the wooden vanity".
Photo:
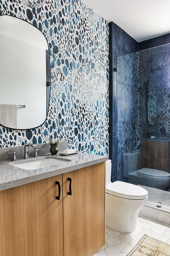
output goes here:
{"type": "Polygon", "coordinates": [[[78,154],[68,156],[61,156],[60,154],[52,156],[51,154],[45,154],[41,155],[38,158],[38,160],[43,159],[45,157],[56,157],[61,160],[65,159],[66,161],[61,162],[61,164],[56,164],[53,166],[39,168],[35,170],[23,170],[21,168],[11,165],[11,163],[19,164],[27,161],[36,161],[37,159],[34,157],[30,157],[29,160],[20,159],[17,162],[12,162],[10,160],[0,162],[0,191],[11,187],[16,187],[19,185],[30,183],[33,181],[37,181],[40,179],[52,177],[58,174],[63,174],[66,172],[77,170],[83,167],[98,164],[101,162],[105,162],[108,159],[107,156],[79,152],[78,154]]]}

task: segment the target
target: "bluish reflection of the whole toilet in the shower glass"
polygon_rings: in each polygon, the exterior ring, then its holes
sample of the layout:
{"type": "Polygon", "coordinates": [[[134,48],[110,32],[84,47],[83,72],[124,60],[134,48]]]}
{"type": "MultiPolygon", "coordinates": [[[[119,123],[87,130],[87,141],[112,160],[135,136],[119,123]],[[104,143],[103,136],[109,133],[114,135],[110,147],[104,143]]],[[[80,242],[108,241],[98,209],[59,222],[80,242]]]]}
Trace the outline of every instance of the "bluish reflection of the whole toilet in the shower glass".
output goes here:
{"type": "Polygon", "coordinates": [[[123,154],[123,175],[128,183],[165,189],[170,183],[170,174],[161,170],[142,168],[138,170],[139,152],[123,154]]]}

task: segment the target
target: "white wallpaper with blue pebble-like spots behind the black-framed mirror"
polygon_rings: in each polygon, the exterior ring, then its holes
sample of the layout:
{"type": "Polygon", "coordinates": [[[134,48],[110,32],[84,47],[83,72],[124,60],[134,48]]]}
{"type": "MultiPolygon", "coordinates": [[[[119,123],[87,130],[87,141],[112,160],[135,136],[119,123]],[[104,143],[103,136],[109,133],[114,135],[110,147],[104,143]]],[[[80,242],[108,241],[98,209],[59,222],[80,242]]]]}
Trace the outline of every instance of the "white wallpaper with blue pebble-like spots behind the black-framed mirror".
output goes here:
{"type": "MultiPolygon", "coordinates": [[[[46,1],[30,8],[0,0],[0,15],[24,19],[45,35],[50,52],[51,94],[45,123],[36,129],[0,127],[0,147],[46,143],[63,134],[68,147],[108,154],[109,26],[80,1],[46,1]]],[[[38,65],[38,63],[37,63],[38,65]]]]}

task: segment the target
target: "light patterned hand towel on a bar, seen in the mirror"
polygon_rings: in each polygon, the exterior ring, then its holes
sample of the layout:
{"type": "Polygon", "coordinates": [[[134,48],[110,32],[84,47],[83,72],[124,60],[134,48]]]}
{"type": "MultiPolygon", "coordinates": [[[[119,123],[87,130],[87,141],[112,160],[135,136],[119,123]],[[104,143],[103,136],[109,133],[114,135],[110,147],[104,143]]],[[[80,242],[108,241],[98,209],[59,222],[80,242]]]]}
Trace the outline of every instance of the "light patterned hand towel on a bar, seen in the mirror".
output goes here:
{"type": "Polygon", "coordinates": [[[0,123],[9,128],[17,128],[18,105],[0,103],[0,123]]]}

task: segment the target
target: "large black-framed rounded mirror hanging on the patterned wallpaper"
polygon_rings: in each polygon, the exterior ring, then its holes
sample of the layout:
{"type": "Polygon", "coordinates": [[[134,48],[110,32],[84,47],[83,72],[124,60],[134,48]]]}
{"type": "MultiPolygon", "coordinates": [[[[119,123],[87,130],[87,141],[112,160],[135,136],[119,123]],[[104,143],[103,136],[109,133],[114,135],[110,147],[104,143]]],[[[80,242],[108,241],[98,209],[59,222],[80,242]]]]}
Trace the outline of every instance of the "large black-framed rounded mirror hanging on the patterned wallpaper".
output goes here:
{"type": "Polygon", "coordinates": [[[28,22],[2,15],[0,42],[0,124],[22,130],[38,127],[46,119],[50,96],[46,38],[28,22]]]}

